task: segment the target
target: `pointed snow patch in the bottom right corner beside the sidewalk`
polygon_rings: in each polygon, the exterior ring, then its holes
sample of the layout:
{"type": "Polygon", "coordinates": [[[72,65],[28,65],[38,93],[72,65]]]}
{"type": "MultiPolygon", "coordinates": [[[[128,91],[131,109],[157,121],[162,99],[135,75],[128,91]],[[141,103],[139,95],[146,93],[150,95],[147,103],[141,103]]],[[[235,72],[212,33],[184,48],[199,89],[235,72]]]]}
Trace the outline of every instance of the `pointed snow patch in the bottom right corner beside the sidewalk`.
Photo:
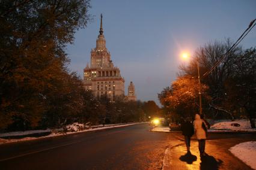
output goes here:
{"type": "Polygon", "coordinates": [[[256,169],[256,141],[243,142],[230,148],[234,156],[241,159],[252,169],[256,169]]]}

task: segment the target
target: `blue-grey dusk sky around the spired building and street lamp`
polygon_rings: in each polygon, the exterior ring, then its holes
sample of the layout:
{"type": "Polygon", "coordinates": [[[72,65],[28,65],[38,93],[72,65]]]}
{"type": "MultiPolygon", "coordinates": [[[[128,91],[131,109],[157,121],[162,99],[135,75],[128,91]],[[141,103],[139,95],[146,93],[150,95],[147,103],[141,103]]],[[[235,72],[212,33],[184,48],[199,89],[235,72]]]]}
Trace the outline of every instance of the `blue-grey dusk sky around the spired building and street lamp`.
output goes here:
{"type": "MultiPolygon", "coordinates": [[[[215,40],[236,41],[256,18],[255,7],[255,0],[93,0],[88,11],[93,20],[67,45],[69,68],[82,78],[91,48],[96,47],[102,13],[106,47],[125,79],[125,94],[133,81],[137,99],[160,106],[157,93],[177,77],[180,54],[193,54],[215,40]]],[[[256,46],[256,27],[240,45],[256,46]]]]}

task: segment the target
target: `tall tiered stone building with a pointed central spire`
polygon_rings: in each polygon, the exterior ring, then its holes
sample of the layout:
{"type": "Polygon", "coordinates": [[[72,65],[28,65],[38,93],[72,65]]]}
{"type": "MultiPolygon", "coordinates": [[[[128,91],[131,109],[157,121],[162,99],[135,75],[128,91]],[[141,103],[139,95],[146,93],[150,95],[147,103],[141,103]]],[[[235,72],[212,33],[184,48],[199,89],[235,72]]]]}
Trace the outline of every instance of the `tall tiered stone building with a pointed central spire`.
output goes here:
{"type": "Polygon", "coordinates": [[[121,77],[120,69],[114,66],[111,54],[106,48],[102,14],[99,32],[96,48],[91,49],[91,65],[87,63],[84,68],[84,86],[85,89],[93,90],[95,96],[106,95],[114,101],[116,96],[124,96],[124,78],[121,77]]]}

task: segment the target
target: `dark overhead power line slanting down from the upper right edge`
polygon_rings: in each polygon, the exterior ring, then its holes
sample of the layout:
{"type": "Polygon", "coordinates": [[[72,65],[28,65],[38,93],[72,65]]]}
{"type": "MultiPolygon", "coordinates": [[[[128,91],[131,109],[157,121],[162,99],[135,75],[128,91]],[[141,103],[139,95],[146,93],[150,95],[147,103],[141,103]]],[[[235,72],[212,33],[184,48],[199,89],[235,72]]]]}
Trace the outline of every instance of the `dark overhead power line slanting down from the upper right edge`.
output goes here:
{"type": "Polygon", "coordinates": [[[215,63],[215,65],[212,66],[212,68],[207,71],[206,73],[204,73],[204,75],[202,77],[206,77],[207,75],[209,75],[223,60],[226,56],[228,56],[231,51],[237,47],[237,45],[243,40],[243,38],[246,37],[246,35],[251,31],[252,28],[254,28],[254,26],[256,25],[256,23],[254,24],[256,19],[252,20],[251,23],[249,24],[248,28],[243,32],[243,34],[237,39],[237,41],[228,49],[228,51],[221,57],[221,59],[215,63]],[[254,25],[253,25],[254,24],[254,25]]]}

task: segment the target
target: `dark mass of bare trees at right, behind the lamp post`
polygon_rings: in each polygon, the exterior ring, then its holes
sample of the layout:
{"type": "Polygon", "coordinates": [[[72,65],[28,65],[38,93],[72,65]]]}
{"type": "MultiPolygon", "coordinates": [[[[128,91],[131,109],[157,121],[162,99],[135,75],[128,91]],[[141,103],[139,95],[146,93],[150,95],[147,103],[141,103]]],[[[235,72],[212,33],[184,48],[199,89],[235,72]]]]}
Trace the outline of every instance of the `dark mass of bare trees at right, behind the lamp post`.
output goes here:
{"type": "Polygon", "coordinates": [[[201,82],[209,86],[208,95],[212,97],[209,108],[215,111],[215,117],[228,115],[231,119],[246,115],[255,127],[255,48],[243,50],[238,46],[227,53],[231,41],[215,41],[198,48],[187,66],[180,66],[181,76],[197,76],[197,62],[200,65],[201,82]],[[216,62],[224,60],[207,76],[216,62]]]}

